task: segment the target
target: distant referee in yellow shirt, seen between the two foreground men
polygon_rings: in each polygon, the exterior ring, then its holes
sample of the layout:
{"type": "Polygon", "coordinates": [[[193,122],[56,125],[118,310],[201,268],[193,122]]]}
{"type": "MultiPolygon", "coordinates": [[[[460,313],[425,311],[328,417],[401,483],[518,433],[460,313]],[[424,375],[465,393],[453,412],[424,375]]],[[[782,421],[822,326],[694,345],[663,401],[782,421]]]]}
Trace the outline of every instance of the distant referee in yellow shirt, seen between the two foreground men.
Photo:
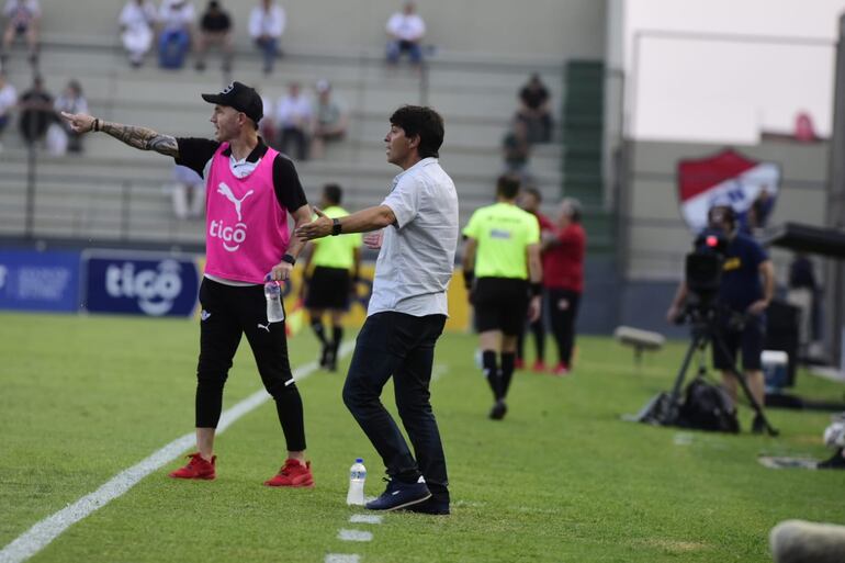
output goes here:
{"type": "MultiPolygon", "coordinates": [[[[330,218],[345,217],[349,213],[340,206],[342,190],[335,183],[323,188],[320,207],[330,218]]],[[[337,350],[343,339],[343,314],[349,311],[350,296],[354,294],[358,272],[361,267],[361,235],[351,233],[336,237],[312,240],[305,261],[303,280],[305,308],[311,318],[311,328],[323,345],[319,364],[328,371],[337,370],[337,350]],[[311,275],[308,275],[309,269],[311,275]],[[331,317],[331,339],[326,335],[323,316],[331,317]]]]}

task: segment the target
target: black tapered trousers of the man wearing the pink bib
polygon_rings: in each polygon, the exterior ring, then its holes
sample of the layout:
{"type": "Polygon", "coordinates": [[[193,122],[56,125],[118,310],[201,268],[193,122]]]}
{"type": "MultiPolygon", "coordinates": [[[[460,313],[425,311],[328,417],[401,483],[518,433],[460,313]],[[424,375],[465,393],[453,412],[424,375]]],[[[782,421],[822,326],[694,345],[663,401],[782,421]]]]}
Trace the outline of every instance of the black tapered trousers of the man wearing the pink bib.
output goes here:
{"type": "Polygon", "coordinates": [[[302,397],[288,359],[284,323],[267,322],[261,285],[236,288],[203,279],[200,285],[200,361],[196,368],[196,427],[216,428],[223,410],[223,386],[243,335],[258,373],[275,401],[289,451],[305,449],[302,397]]]}

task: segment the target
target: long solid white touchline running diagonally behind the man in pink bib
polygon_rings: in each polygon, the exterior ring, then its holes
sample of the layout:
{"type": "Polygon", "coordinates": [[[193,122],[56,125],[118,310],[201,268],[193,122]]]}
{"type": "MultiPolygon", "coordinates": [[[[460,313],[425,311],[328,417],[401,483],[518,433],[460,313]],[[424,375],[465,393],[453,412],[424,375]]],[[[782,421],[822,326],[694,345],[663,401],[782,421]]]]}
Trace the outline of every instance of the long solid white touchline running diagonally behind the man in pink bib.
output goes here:
{"type": "MultiPolygon", "coordinates": [[[[343,342],[343,346],[340,347],[340,356],[346,356],[353,347],[354,345],[351,341],[343,342]]],[[[298,381],[307,378],[316,370],[317,362],[306,363],[293,370],[293,376],[298,381]]],[[[270,398],[270,395],[262,389],[227,409],[221,416],[216,433],[223,432],[238,418],[254,410],[267,402],[268,398],[270,398]]],[[[46,548],[72,525],[126,493],[142,478],[177,459],[183,451],[193,446],[194,439],[194,432],[177,438],[139,463],[120,472],[93,493],[87,494],[72,505],[68,505],[52,516],[36,522],[0,551],[0,563],[26,561],[46,548]]]]}

